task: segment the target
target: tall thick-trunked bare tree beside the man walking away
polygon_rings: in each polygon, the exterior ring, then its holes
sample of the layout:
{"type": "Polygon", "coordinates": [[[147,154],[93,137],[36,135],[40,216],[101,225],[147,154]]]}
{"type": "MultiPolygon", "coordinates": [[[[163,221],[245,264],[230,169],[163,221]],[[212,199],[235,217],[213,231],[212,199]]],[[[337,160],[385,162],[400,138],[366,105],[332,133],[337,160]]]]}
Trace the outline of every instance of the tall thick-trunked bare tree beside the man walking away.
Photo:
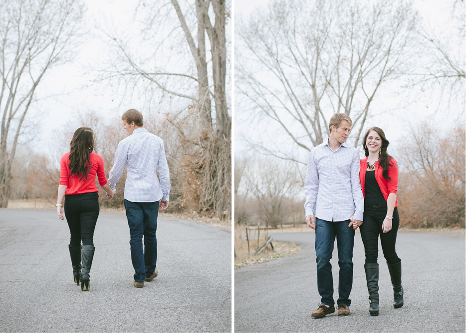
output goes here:
{"type": "Polygon", "coordinates": [[[159,90],[161,98],[168,95],[180,101],[166,119],[179,132],[186,156],[192,156],[185,160],[187,174],[201,178],[198,193],[187,197],[198,198],[201,210],[218,216],[231,211],[232,120],[227,103],[225,31],[230,4],[226,0],[145,1],[138,7],[141,15],[137,17],[145,17],[141,30],[147,52],[138,51],[140,45],[107,29],[116,52],[108,66],[99,69],[97,79],[124,82],[124,89],[149,84],[149,98],[159,90]],[[164,29],[161,21],[166,23],[164,29]],[[193,126],[188,127],[188,122],[193,126]]]}

